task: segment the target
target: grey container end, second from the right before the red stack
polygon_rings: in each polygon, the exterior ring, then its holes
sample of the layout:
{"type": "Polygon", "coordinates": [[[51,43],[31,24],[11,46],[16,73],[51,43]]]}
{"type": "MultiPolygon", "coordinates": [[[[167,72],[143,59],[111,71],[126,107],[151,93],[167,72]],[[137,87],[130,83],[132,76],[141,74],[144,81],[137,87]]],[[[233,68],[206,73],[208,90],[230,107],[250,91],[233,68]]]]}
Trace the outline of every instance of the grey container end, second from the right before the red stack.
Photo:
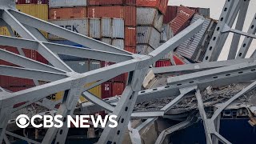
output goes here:
{"type": "Polygon", "coordinates": [[[101,23],[102,37],[111,38],[112,36],[112,19],[102,18],[101,23]]]}

